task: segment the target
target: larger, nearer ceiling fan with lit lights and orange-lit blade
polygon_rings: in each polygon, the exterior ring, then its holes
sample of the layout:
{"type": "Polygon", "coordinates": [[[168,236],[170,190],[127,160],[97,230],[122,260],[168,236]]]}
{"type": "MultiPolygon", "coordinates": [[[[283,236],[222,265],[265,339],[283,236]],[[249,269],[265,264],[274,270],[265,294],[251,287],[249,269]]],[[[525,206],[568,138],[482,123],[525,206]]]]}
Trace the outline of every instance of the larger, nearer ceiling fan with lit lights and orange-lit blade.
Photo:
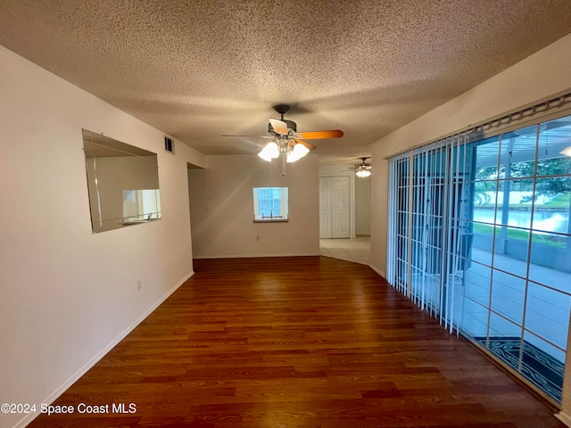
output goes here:
{"type": "Polygon", "coordinates": [[[271,162],[281,155],[283,172],[285,177],[285,163],[298,161],[311,150],[317,147],[303,140],[320,140],[325,138],[340,138],[343,131],[308,131],[297,132],[297,124],[293,120],[284,119],[284,114],[289,111],[289,106],[279,104],[274,109],[281,115],[281,119],[269,119],[268,133],[269,136],[256,136],[263,138],[271,138],[268,144],[264,144],[258,156],[264,161],[271,162]]]}

